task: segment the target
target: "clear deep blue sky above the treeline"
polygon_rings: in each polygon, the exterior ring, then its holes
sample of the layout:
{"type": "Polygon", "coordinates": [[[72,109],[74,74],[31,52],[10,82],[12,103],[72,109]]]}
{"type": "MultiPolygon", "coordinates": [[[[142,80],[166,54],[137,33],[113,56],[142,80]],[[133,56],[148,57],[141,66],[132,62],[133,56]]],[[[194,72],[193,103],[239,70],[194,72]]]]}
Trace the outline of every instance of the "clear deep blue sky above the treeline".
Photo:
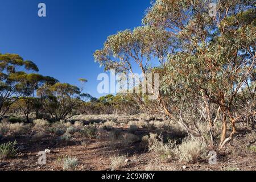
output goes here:
{"type": "Polygon", "coordinates": [[[93,52],[109,35],[141,25],[150,0],[0,0],[0,52],[32,60],[39,73],[97,93],[93,52]],[[46,3],[47,17],[39,18],[38,4],[46,3]]]}

